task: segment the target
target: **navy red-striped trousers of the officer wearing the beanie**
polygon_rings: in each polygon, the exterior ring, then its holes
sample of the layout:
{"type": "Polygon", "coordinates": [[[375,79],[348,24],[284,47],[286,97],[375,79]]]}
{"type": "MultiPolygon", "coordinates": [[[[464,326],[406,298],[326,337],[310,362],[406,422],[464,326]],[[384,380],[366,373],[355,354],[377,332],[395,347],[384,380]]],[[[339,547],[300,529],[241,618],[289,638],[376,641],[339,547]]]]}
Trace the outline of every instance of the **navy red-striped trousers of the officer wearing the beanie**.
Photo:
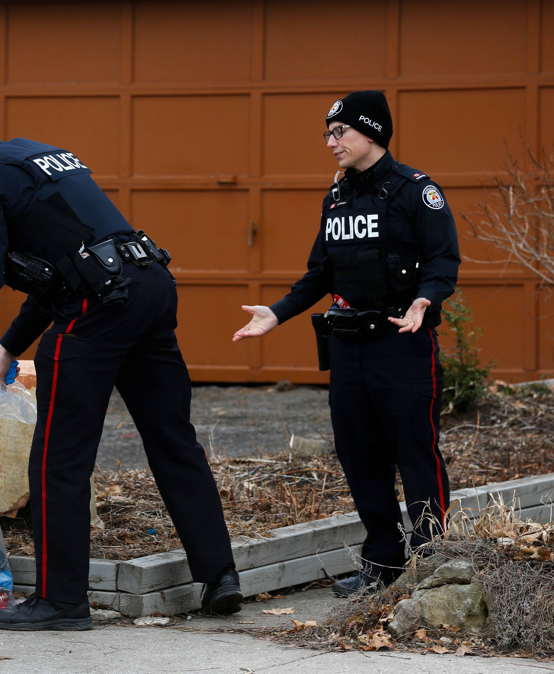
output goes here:
{"type": "Polygon", "coordinates": [[[450,505],[438,448],[443,370],[437,334],[432,328],[399,334],[390,324],[371,342],[331,337],[329,352],[336,451],[367,529],[362,557],[375,565],[402,566],[396,466],[413,526],[412,547],[442,531],[450,505]],[[427,502],[435,520],[432,530],[427,502]]]}

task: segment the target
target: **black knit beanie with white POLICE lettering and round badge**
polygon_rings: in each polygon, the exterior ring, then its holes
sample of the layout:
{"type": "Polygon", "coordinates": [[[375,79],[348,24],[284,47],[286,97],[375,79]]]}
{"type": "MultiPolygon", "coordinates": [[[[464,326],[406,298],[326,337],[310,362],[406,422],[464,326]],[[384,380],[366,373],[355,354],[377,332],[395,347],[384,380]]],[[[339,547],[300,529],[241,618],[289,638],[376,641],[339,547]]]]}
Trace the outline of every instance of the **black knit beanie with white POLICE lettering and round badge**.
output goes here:
{"type": "Polygon", "coordinates": [[[381,148],[388,148],[392,136],[392,117],[383,92],[373,89],[353,91],[336,100],[327,115],[327,126],[334,119],[373,138],[381,148]]]}

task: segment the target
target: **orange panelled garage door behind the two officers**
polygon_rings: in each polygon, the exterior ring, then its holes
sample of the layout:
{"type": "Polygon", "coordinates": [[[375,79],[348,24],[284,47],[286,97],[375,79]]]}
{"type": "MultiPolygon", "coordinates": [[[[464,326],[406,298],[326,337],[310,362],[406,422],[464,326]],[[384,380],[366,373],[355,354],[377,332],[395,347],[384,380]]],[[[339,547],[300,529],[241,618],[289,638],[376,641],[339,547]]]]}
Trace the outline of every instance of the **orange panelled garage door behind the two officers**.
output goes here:
{"type": "MultiPolygon", "coordinates": [[[[309,315],[230,340],[241,304],[303,273],[336,171],[330,104],[386,92],[392,152],[473,210],[504,142],[552,144],[553,26],[548,0],[0,3],[0,125],[78,154],[170,249],[194,379],[321,382],[309,315]]],[[[458,227],[468,257],[495,256],[458,227]]],[[[532,275],[465,262],[460,284],[497,375],[553,373],[554,301],[532,275]]],[[[0,329],[21,301],[2,290],[0,329]]]]}

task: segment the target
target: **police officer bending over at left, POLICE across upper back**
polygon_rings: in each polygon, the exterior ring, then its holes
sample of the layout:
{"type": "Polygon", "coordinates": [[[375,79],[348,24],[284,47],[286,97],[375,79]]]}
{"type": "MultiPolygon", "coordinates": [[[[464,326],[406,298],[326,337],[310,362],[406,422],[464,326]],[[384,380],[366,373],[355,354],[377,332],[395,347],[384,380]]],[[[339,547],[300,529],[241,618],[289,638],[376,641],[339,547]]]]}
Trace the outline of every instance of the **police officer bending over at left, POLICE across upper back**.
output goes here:
{"type": "Polygon", "coordinates": [[[113,387],[146,456],[205,613],[241,608],[218,489],[191,425],[175,338],[171,257],[135,232],[67,150],[0,143],[0,286],[28,293],[0,338],[0,379],[42,334],[29,461],[35,594],[0,610],[1,630],[88,630],[90,475],[113,387]]]}

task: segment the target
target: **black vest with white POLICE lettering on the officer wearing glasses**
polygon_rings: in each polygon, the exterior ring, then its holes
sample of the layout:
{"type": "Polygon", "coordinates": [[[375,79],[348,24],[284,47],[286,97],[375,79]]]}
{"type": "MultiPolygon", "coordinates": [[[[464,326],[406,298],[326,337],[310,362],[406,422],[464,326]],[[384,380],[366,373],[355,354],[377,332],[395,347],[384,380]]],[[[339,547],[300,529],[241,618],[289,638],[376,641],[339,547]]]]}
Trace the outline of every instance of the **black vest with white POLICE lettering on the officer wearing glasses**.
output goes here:
{"type": "Polygon", "coordinates": [[[408,307],[414,299],[417,245],[393,238],[387,226],[389,204],[414,173],[404,164],[394,164],[388,175],[355,197],[346,178],[331,192],[322,214],[324,272],[330,292],[352,307],[408,307]]]}

